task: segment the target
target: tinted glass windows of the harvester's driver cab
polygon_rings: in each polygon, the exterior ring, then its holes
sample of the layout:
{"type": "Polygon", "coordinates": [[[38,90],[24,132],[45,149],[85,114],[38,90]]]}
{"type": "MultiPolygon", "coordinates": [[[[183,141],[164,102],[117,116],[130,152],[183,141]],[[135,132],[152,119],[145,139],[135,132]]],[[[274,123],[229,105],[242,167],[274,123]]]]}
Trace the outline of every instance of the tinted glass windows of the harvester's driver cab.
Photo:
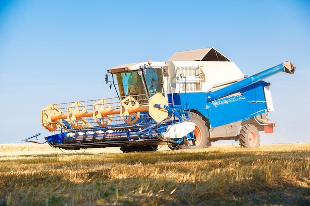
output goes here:
{"type": "MultiPolygon", "coordinates": [[[[163,86],[162,69],[147,68],[115,74],[120,96],[142,95],[160,92],[163,86]]],[[[146,95],[138,99],[148,98],[146,95]]]]}

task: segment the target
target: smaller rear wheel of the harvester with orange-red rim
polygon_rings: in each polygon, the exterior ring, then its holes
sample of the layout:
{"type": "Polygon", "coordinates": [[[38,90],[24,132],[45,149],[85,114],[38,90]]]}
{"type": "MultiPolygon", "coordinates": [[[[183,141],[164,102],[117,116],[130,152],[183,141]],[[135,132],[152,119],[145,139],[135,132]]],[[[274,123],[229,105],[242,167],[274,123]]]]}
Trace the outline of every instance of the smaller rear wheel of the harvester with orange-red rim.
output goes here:
{"type": "Polygon", "coordinates": [[[245,124],[242,126],[238,135],[239,145],[244,148],[258,148],[259,147],[259,133],[258,129],[253,124],[245,124]]]}

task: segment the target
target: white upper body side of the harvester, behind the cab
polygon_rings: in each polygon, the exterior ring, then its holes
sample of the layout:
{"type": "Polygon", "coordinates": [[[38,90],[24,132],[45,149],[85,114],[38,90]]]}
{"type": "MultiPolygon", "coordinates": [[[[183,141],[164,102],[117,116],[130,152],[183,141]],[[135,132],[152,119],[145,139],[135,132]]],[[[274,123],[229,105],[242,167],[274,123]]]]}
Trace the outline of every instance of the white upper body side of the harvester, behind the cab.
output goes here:
{"type": "MultiPolygon", "coordinates": [[[[244,78],[234,62],[171,61],[166,65],[169,66],[167,80],[171,83],[172,92],[185,92],[185,81],[187,91],[207,92],[244,78]],[[186,78],[180,78],[180,74],[186,78]]],[[[168,93],[171,92],[169,87],[167,89],[168,93]]]]}

